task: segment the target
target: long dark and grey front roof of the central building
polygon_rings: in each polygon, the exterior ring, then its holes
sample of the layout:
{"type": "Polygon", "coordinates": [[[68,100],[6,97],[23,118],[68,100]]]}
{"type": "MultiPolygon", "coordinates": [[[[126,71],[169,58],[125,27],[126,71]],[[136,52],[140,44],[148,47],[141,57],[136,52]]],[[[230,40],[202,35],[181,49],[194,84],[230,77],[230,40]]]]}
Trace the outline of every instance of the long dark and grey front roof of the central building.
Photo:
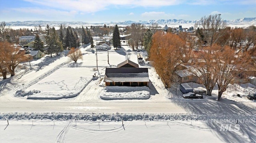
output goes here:
{"type": "Polygon", "coordinates": [[[106,68],[104,82],[149,82],[148,68],[106,68]]]}

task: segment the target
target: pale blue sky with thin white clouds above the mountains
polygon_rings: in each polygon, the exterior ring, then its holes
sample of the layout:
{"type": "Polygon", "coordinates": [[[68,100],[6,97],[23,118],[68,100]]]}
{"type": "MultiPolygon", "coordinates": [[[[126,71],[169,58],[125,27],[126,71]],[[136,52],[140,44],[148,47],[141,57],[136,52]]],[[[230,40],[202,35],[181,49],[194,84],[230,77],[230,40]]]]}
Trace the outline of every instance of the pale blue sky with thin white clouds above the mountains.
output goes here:
{"type": "Polygon", "coordinates": [[[224,20],[256,17],[256,0],[0,0],[0,21],[224,20]]]}

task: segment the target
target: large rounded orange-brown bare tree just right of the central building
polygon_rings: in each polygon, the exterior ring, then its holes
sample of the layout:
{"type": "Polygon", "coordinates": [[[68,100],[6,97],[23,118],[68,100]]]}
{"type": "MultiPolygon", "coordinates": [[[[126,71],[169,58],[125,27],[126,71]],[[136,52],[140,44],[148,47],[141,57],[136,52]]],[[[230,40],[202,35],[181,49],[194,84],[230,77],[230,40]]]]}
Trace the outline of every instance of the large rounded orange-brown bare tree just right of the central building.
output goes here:
{"type": "Polygon", "coordinates": [[[175,67],[181,63],[180,47],[184,45],[185,42],[172,33],[163,35],[162,31],[158,31],[153,35],[150,57],[162,81],[169,88],[173,84],[175,67]]]}

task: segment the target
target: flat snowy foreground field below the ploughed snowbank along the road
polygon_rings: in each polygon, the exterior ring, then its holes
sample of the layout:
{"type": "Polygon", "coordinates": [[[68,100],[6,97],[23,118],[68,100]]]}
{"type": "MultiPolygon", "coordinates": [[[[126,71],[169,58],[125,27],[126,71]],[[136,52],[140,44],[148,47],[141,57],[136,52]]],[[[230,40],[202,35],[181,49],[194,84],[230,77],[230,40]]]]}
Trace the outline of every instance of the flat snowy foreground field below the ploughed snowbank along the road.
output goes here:
{"type": "MultiPolygon", "coordinates": [[[[233,124],[235,125],[235,124],[233,124]]],[[[255,143],[255,124],[220,131],[206,121],[0,121],[1,143],[255,143]],[[122,124],[123,123],[123,124],[122,124]]]]}

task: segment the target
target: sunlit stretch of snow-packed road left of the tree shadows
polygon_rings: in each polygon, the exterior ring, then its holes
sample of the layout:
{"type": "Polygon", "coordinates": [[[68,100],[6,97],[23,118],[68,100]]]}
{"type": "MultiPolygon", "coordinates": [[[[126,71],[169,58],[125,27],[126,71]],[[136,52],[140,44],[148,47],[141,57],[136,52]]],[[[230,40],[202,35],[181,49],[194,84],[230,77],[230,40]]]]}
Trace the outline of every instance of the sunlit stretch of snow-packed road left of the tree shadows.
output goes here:
{"type": "Polygon", "coordinates": [[[6,112],[187,113],[172,102],[1,102],[6,112]]]}

